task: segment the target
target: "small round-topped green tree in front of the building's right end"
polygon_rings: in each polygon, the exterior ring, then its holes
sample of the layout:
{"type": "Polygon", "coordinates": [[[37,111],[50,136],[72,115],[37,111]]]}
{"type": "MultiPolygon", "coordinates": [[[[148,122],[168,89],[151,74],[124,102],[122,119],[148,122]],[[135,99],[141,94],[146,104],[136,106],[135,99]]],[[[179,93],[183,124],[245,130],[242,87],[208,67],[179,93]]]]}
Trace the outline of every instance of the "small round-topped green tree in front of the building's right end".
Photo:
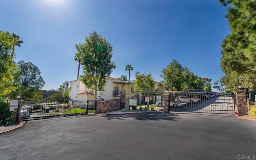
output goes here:
{"type": "Polygon", "coordinates": [[[134,90],[154,90],[155,82],[151,73],[149,74],[141,74],[140,72],[135,73],[135,83],[134,90]]]}

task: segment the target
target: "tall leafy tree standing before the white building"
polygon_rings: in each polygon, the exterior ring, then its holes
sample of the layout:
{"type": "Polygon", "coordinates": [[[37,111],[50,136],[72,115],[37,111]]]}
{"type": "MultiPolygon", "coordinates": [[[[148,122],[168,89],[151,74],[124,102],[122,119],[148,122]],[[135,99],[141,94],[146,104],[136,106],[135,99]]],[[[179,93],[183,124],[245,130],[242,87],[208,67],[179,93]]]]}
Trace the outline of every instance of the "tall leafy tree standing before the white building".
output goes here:
{"type": "Polygon", "coordinates": [[[93,32],[86,36],[85,43],[81,49],[83,66],[82,82],[87,88],[95,90],[95,101],[97,98],[97,89],[102,89],[106,83],[106,76],[110,76],[112,70],[116,68],[114,62],[111,62],[112,45],[103,38],[102,35],[93,32]]]}

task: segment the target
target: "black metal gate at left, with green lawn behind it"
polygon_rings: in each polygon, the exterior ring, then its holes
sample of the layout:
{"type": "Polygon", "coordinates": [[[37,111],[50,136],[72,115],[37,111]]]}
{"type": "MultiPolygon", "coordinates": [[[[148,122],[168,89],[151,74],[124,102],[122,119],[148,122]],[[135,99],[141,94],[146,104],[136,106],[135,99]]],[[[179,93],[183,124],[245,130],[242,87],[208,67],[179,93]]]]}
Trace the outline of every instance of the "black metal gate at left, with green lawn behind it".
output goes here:
{"type": "Polygon", "coordinates": [[[52,97],[45,100],[22,101],[21,107],[23,121],[39,120],[94,113],[95,100],[80,101],[66,97],[52,97]]]}

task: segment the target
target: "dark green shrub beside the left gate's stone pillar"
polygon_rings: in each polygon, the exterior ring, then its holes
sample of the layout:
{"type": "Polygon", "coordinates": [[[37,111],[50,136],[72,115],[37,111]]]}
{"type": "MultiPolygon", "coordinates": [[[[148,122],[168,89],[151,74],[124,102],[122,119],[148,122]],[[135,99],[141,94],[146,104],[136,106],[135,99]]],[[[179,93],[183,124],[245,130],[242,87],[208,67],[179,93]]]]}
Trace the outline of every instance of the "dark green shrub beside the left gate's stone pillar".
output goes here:
{"type": "Polygon", "coordinates": [[[13,112],[10,111],[10,105],[7,102],[0,101],[0,124],[12,122],[13,112]]]}

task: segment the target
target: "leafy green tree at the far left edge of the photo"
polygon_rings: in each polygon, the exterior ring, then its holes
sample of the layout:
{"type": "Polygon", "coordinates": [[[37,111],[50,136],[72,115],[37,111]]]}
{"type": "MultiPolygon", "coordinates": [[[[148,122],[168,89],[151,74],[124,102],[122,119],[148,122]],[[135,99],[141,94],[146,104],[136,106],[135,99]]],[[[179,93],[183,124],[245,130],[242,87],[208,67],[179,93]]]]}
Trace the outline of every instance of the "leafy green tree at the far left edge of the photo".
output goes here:
{"type": "Polygon", "coordinates": [[[10,56],[12,47],[11,34],[0,30],[0,97],[16,90],[13,80],[17,65],[10,56]]]}

